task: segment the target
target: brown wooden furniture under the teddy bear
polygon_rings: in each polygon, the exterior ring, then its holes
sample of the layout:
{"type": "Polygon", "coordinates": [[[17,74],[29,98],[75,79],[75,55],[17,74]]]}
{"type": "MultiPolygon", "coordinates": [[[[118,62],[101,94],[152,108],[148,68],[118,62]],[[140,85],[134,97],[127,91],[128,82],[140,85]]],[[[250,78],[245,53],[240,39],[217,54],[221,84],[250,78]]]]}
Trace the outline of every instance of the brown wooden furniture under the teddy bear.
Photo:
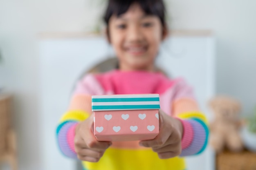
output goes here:
{"type": "Polygon", "coordinates": [[[256,153],[225,150],[216,155],[216,170],[256,170],[256,153]]]}

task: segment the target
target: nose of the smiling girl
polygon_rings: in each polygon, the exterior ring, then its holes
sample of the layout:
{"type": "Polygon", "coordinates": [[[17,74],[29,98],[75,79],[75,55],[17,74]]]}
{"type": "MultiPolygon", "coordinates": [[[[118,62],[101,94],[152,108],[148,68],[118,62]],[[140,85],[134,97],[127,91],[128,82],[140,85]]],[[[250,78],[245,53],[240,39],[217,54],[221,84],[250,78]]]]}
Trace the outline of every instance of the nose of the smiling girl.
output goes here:
{"type": "Polygon", "coordinates": [[[128,42],[139,42],[143,40],[143,33],[141,32],[141,29],[139,29],[139,26],[130,26],[126,39],[128,42]]]}

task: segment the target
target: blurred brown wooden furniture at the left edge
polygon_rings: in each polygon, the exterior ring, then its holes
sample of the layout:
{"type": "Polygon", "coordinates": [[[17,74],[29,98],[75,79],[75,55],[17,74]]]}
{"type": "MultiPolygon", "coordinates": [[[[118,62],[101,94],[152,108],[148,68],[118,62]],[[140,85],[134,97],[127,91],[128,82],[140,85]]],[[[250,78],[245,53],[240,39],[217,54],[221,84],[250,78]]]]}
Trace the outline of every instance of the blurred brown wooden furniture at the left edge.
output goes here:
{"type": "Polygon", "coordinates": [[[16,135],[11,126],[11,96],[0,94],[0,161],[17,170],[16,135]]]}

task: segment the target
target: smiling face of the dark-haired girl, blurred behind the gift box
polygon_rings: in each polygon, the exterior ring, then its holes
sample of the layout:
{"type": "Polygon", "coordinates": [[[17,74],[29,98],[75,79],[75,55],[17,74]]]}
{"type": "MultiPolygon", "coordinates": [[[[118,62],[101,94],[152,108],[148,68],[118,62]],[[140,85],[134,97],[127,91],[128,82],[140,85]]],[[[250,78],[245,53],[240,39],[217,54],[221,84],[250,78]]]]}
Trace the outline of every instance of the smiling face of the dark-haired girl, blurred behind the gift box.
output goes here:
{"type": "Polygon", "coordinates": [[[109,41],[124,71],[154,70],[154,60],[163,35],[162,24],[157,16],[146,15],[139,4],[132,4],[119,17],[109,21],[109,41]]]}

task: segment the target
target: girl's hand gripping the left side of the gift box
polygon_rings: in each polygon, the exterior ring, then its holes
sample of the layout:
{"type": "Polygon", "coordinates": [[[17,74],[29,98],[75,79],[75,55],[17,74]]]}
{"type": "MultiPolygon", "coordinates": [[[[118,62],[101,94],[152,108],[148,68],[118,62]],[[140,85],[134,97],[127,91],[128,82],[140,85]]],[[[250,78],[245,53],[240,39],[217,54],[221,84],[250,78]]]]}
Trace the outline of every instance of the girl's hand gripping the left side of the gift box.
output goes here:
{"type": "Polygon", "coordinates": [[[82,161],[97,162],[111,145],[108,141],[97,141],[93,135],[93,114],[76,126],[75,151],[82,161]]]}

